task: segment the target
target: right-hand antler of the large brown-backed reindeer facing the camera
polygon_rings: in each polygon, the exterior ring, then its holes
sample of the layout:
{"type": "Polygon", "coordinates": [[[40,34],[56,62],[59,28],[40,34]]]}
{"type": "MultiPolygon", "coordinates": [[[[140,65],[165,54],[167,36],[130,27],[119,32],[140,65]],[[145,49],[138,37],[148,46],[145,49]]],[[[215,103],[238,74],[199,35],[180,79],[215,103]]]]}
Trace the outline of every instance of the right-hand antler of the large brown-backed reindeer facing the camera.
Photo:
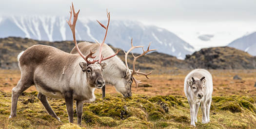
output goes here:
{"type": "MultiPolygon", "coordinates": [[[[100,25],[101,27],[103,27],[103,28],[106,30],[105,37],[104,37],[102,43],[100,44],[100,48],[99,48],[99,57],[100,57],[100,59],[99,59],[99,61],[98,61],[99,64],[100,64],[101,61],[103,61],[103,60],[106,60],[106,59],[109,59],[109,58],[111,58],[111,57],[114,57],[114,56],[117,55],[118,52],[119,52],[119,50],[118,50],[117,53],[115,53],[114,55],[111,55],[111,56],[109,56],[109,57],[106,57],[106,58],[104,58],[104,56],[101,55],[102,47],[103,47],[103,44],[104,44],[104,42],[105,42],[105,40],[106,40],[106,37],[107,37],[108,26],[109,26],[109,21],[110,21],[110,12],[108,12],[108,9],[107,9],[107,17],[108,17],[108,24],[107,24],[107,27],[106,27],[105,25],[103,25],[102,23],[100,23],[100,22],[97,20],[98,23],[99,23],[99,25],[100,25]]],[[[97,42],[97,41],[96,41],[96,42],[97,42]]],[[[97,43],[98,43],[98,42],[97,42],[97,43]]]]}

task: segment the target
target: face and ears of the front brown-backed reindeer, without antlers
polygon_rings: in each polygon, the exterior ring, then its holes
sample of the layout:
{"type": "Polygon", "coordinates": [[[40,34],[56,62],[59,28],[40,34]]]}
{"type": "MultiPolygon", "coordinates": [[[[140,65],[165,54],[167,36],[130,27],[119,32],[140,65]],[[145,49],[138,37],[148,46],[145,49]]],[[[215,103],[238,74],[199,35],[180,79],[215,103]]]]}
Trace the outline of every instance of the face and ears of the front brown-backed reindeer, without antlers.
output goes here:
{"type": "Polygon", "coordinates": [[[105,80],[102,76],[102,70],[107,65],[105,62],[101,62],[101,64],[98,62],[94,64],[80,62],[79,65],[82,68],[82,71],[86,73],[87,81],[91,87],[100,89],[105,86],[105,80]]]}

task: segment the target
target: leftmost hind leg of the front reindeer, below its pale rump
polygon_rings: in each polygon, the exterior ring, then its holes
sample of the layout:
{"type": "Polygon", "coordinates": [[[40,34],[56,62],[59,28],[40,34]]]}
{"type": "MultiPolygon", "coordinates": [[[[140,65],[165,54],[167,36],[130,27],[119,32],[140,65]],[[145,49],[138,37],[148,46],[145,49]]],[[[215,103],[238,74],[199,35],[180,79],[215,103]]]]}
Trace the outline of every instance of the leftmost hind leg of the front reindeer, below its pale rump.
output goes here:
{"type": "Polygon", "coordinates": [[[24,81],[24,79],[22,79],[22,76],[21,76],[21,79],[17,84],[17,86],[12,89],[12,107],[11,107],[11,115],[9,116],[9,118],[17,116],[18,98],[20,94],[25,90],[27,90],[29,87],[31,87],[32,84],[33,82],[31,81],[24,81]]]}

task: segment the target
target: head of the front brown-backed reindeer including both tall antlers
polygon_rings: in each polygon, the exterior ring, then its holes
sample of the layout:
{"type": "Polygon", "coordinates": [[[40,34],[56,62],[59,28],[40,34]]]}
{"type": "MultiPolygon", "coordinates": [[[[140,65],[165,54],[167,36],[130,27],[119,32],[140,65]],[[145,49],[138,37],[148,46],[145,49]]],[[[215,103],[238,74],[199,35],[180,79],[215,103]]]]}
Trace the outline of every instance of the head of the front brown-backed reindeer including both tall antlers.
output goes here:
{"type": "MultiPolygon", "coordinates": [[[[79,10],[80,11],[80,10],[79,10]]],[[[108,30],[108,26],[109,26],[109,21],[110,21],[110,13],[107,12],[107,17],[108,17],[108,25],[107,27],[105,27],[103,24],[101,24],[99,21],[98,23],[106,29],[106,34],[105,34],[105,37],[104,37],[104,40],[103,42],[101,43],[100,45],[100,49],[99,49],[99,59],[98,60],[94,60],[93,58],[95,58],[96,56],[93,56],[94,52],[90,51],[90,54],[88,54],[87,56],[84,56],[81,51],[79,50],[79,47],[78,47],[78,44],[77,44],[77,40],[76,40],[76,35],[75,35],[75,27],[76,27],[76,22],[77,22],[77,19],[78,19],[78,14],[79,14],[79,11],[77,13],[75,13],[75,9],[74,9],[74,5],[73,5],[73,2],[72,2],[72,9],[70,7],[70,18],[69,20],[67,20],[67,23],[72,31],[72,34],[73,34],[73,38],[74,38],[74,42],[75,42],[75,46],[76,46],[76,49],[79,53],[79,55],[86,61],[86,62],[80,62],[79,63],[79,66],[81,67],[82,71],[84,73],[86,73],[86,77],[87,77],[87,80],[88,80],[88,83],[91,87],[95,87],[95,88],[102,88],[103,86],[105,86],[105,80],[103,79],[103,76],[102,76],[102,70],[106,67],[106,63],[105,62],[101,62],[103,60],[106,60],[106,59],[109,59],[111,57],[114,57],[115,55],[118,54],[118,52],[114,55],[111,55],[109,57],[106,57],[104,58],[102,55],[101,55],[101,50],[102,50],[102,46],[104,44],[104,41],[106,39],[106,36],[107,36],[107,30],[108,30]],[[72,18],[72,12],[73,12],[73,15],[74,15],[74,18],[73,18],[73,24],[71,23],[71,18],[72,18]],[[92,60],[89,60],[88,58],[92,58],[92,60]]]]}

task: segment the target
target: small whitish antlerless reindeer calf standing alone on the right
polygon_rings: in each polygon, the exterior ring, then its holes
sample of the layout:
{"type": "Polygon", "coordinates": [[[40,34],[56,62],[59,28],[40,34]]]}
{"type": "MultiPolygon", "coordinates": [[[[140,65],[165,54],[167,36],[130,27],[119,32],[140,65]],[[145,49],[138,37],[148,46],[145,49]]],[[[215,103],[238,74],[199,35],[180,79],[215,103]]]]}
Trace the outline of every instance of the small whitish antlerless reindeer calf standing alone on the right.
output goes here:
{"type": "Polygon", "coordinates": [[[190,106],[191,125],[196,126],[197,112],[201,103],[202,123],[210,122],[210,108],[213,93],[212,75],[204,69],[191,71],[185,78],[184,91],[190,106]]]}

